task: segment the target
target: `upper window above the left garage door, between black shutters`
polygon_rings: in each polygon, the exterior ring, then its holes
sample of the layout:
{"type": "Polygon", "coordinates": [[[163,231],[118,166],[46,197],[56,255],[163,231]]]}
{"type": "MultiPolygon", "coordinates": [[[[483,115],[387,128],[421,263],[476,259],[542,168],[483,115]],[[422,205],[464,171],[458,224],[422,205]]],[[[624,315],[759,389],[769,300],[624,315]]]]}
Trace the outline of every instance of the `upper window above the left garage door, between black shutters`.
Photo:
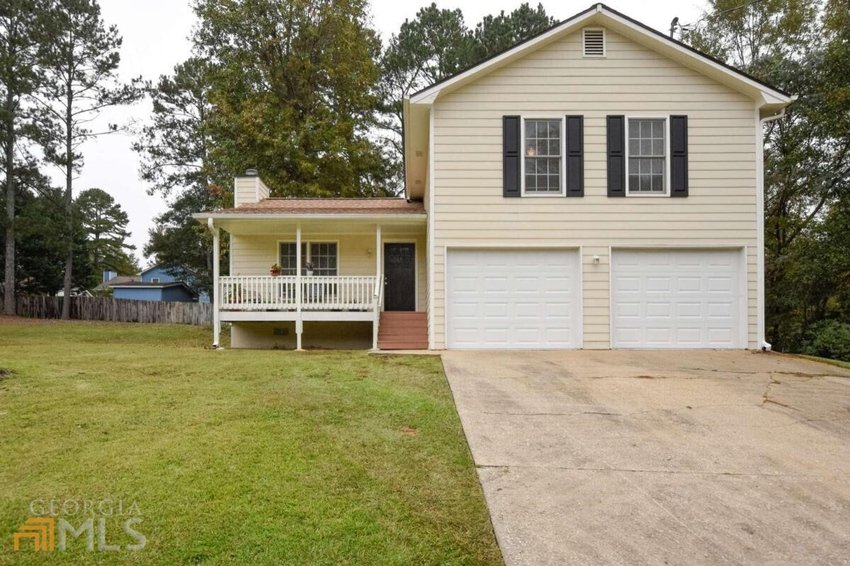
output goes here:
{"type": "Polygon", "coordinates": [[[561,120],[524,120],[525,194],[561,194],[561,120]]]}

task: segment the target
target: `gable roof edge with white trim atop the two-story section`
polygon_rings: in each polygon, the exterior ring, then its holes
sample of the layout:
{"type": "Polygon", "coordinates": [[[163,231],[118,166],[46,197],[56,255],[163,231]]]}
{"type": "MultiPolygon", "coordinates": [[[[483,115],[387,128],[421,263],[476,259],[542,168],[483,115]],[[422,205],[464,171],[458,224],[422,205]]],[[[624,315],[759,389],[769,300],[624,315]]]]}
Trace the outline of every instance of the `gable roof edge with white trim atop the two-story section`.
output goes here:
{"type": "MultiPolygon", "coordinates": [[[[507,48],[500,53],[496,53],[492,55],[488,59],[484,59],[477,64],[473,64],[465,70],[461,70],[457,72],[455,75],[447,76],[440,81],[433,83],[432,85],[422,88],[422,90],[418,92],[414,92],[410,95],[411,104],[420,104],[420,103],[428,103],[433,101],[433,98],[440,93],[445,93],[449,90],[454,90],[454,88],[461,86],[461,84],[465,84],[468,81],[471,81],[479,76],[482,76],[486,73],[489,73],[491,70],[495,70],[501,67],[503,64],[507,64],[515,59],[519,59],[520,57],[534,51],[538,48],[547,45],[550,42],[553,42],[560,38],[561,36],[567,35],[574,31],[577,31],[581,26],[594,24],[594,25],[607,25],[611,27],[612,30],[623,32],[624,29],[631,30],[635,33],[624,33],[633,41],[637,41],[640,43],[646,44],[647,42],[650,45],[646,47],[652,48],[655,51],[659,51],[662,54],[668,55],[670,53],[663,53],[661,48],[668,48],[679,53],[682,53],[685,56],[688,56],[691,60],[689,61],[691,65],[689,66],[700,66],[705,65],[704,69],[695,69],[703,72],[704,74],[709,74],[706,72],[707,70],[713,69],[719,72],[725,73],[727,75],[726,78],[731,79],[731,81],[739,81],[742,84],[738,84],[737,88],[733,85],[729,84],[729,87],[735,88],[735,90],[743,91],[746,94],[750,94],[752,96],[753,90],[755,88],[757,91],[761,91],[763,94],[767,95],[769,98],[777,98],[777,100],[766,100],[765,102],[791,102],[791,95],[787,92],[780,90],[773,85],[768,84],[765,81],[761,81],[754,76],[751,76],[745,73],[742,70],[736,69],[730,64],[724,63],[719,59],[715,59],[711,57],[711,55],[707,53],[701,52],[699,49],[695,49],[689,46],[687,43],[683,43],[673,39],[672,37],[666,36],[658,30],[655,30],[649,25],[643,24],[638,20],[634,20],[630,18],[626,14],[622,14],[618,12],[614,8],[609,8],[604,3],[595,3],[590,8],[587,8],[578,14],[570,16],[566,20],[559,22],[556,25],[548,28],[547,30],[541,31],[535,36],[531,36],[523,42],[519,42],[513,47],[507,48]],[[641,41],[644,40],[644,41],[641,41]],[[656,43],[652,45],[652,43],[656,43]],[[744,87],[749,86],[750,89],[745,89],[744,87]],[[454,87],[454,88],[453,88],[454,87]]],[[[681,61],[680,61],[681,62],[681,61]]],[[[715,76],[714,78],[717,78],[715,76]]],[[[722,81],[725,82],[725,81],[722,81]]],[[[755,97],[754,97],[755,98],[755,97]]]]}

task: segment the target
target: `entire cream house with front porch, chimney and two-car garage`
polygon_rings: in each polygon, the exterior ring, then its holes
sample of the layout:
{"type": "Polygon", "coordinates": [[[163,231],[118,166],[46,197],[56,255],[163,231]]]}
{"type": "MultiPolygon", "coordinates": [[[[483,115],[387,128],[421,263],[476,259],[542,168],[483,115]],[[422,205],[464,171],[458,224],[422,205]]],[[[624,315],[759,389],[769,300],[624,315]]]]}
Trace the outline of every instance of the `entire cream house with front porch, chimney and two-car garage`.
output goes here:
{"type": "Polygon", "coordinates": [[[196,215],[230,235],[214,343],[769,347],[762,126],[791,100],[595,4],[405,98],[406,199],[237,177],[196,215]]]}

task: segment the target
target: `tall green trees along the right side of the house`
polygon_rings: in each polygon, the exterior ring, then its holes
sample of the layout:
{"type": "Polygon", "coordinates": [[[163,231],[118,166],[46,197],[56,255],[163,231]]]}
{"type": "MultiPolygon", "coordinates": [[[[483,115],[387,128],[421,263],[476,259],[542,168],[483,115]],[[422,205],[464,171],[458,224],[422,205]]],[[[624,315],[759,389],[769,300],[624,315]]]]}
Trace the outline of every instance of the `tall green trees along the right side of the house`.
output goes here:
{"type": "MultiPolygon", "coordinates": [[[[768,341],[799,351],[826,319],[847,322],[850,26],[847,3],[711,0],[684,39],[799,96],[765,131],[768,341]]],[[[823,327],[826,328],[826,327],[823,327]]]]}

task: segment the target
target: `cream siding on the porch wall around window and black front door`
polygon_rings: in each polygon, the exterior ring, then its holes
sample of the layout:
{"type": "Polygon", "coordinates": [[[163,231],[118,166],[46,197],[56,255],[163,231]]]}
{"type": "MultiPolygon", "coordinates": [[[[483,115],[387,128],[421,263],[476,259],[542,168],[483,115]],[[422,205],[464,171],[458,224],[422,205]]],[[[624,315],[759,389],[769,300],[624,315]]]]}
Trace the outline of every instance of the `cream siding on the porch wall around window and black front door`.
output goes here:
{"type": "MultiPolygon", "coordinates": [[[[337,242],[337,275],[375,275],[374,234],[301,234],[303,242],[337,242]],[[371,255],[366,255],[367,251],[371,255]]],[[[278,242],[295,241],[294,233],[262,236],[230,235],[230,274],[269,275],[272,264],[277,263],[278,242]]],[[[425,234],[382,232],[384,242],[416,243],[416,311],[424,311],[427,305],[427,265],[425,234]]]]}

